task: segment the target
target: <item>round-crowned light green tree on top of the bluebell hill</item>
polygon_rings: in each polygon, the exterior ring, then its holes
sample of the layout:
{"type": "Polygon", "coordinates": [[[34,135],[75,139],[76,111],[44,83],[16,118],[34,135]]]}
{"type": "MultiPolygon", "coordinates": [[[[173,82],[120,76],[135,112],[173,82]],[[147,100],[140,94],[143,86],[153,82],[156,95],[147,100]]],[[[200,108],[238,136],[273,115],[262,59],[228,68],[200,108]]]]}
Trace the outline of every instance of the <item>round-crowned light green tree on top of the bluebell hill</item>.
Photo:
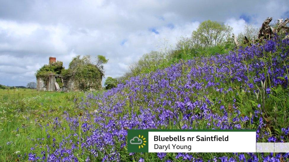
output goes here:
{"type": "Polygon", "coordinates": [[[202,47],[215,46],[226,42],[231,35],[232,27],[223,22],[207,20],[192,32],[191,41],[202,47]]]}

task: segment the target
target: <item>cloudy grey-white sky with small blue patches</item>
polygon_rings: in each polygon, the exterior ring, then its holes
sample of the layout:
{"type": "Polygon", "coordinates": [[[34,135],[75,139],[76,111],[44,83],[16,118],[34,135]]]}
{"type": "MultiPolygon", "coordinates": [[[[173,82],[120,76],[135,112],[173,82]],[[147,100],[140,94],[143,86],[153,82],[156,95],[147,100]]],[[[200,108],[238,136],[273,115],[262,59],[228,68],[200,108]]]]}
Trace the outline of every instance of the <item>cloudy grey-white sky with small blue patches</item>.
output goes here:
{"type": "Polygon", "coordinates": [[[205,20],[225,22],[238,34],[267,17],[289,18],[288,6],[287,0],[0,0],[0,84],[26,86],[49,57],[67,68],[76,55],[109,59],[104,82],[165,40],[174,49],[205,20]]]}

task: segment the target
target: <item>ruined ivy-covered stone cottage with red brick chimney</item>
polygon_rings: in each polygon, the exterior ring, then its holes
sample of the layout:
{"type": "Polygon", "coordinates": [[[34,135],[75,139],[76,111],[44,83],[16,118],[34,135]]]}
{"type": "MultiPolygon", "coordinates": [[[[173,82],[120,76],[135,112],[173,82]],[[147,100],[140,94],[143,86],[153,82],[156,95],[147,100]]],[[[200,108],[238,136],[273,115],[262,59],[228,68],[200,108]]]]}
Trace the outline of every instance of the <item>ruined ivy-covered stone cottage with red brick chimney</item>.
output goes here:
{"type": "Polygon", "coordinates": [[[97,91],[102,88],[102,76],[102,71],[93,64],[65,69],[61,61],[56,61],[55,57],[49,57],[49,64],[36,72],[37,90],[97,91]]]}

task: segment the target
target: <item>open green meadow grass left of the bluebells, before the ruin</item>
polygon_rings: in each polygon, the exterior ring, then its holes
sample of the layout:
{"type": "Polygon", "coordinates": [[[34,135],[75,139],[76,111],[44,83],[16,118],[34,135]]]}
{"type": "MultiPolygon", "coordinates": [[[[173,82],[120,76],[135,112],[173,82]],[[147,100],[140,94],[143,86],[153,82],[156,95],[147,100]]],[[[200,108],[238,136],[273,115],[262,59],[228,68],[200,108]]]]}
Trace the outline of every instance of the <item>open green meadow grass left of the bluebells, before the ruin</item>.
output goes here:
{"type": "Polygon", "coordinates": [[[47,124],[64,111],[73,113],[76,107],[73,100],[83,96],[84,92],[0,89],[0,161],[15,160],[17,154],[35,147],[37,138],[44,136],[36,121],[47,124]],[[7,145],[10,141],[13,143],[7,145]]]}

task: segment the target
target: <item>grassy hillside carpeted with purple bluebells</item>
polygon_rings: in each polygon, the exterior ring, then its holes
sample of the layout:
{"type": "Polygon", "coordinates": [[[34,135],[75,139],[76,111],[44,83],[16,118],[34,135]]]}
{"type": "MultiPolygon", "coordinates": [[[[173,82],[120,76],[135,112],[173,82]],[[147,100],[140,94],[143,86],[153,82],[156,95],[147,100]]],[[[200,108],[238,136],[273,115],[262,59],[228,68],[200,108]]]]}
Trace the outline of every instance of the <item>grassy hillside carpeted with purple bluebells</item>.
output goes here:
{"type": "Polygon", "coordinates": [[[43,102],[2,103],[0,159],[288,161],[289,153],[128,153],[126,148],[127,129],[256,129],[257,142],[289,142],[288,50],[289,40],[276,36],[264,45],[181,60],[103,94],[48,93],[43,102]],[[21,104],[25,109],[17,107],[21,104]]]}

